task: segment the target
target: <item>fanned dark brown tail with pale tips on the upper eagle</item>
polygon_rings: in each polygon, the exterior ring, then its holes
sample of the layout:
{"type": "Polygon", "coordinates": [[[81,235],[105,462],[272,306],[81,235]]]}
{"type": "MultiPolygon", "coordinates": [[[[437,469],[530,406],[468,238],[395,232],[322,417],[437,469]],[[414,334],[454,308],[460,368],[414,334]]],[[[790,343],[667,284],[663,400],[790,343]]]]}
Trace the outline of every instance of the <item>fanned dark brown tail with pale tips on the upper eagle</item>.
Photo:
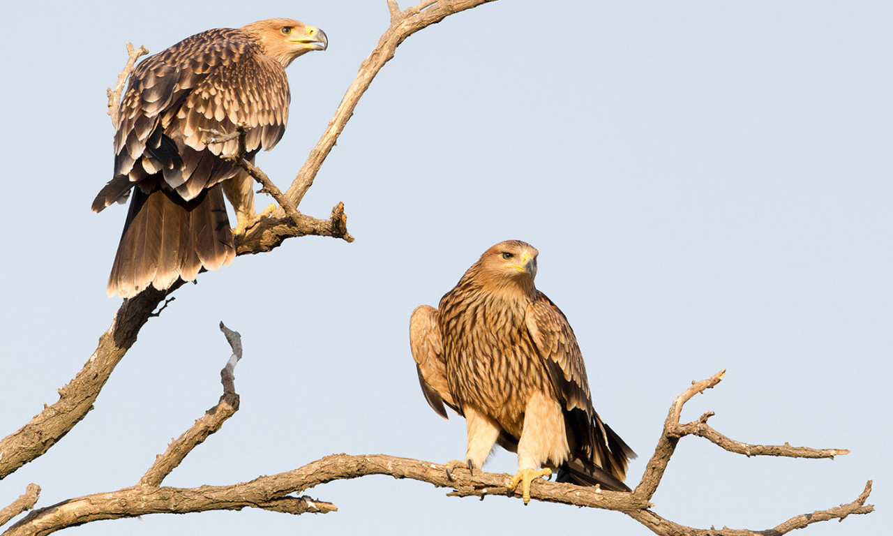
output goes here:
{"type": "Polygon", "coordinates": [[[134,297],[150,284],[168,289],[174,281],[196,279],[236,256],[221,187],[191,201],[168,189],[146,194],[134,188],[106,292],[134,297]]]}

